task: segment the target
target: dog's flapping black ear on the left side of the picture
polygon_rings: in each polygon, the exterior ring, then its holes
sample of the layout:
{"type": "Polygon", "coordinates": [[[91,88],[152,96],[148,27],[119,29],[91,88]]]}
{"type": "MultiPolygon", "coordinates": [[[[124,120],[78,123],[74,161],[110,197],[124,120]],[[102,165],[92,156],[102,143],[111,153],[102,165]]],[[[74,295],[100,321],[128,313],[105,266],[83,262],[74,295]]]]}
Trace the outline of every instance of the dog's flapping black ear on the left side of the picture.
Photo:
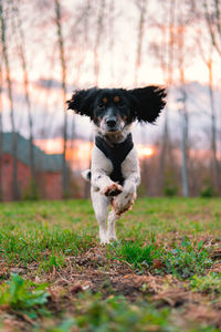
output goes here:
{"type": "Polygon", "coordinates": [[[93,107],[97,91],[97,87],[75,91],[72,98],[66,102],[67,108],[74,110],[77,114],[93,118],[93,107]]]}

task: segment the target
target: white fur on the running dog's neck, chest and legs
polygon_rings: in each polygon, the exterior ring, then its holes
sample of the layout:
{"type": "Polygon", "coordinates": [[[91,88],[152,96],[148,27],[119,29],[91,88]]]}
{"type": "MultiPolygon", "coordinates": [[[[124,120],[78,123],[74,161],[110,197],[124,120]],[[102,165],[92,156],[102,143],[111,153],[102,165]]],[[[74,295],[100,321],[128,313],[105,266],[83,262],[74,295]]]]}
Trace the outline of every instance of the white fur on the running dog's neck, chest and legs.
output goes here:
{"type": "MultiPolygon", "coordinates": [[[[98,134],[98,129],[96,131],[96,134],[98,134]]],[[[130,126],[126,126],[120,133],[109,135],[108,138],[112,142],[124,142],[129,133],[130,126]]],[[[140,172],[135,147],[133,147],[122,164],[122,174],[125,178],[123,187],[109,178],[112,170],[112,162],[95,145],[92,149],[91,196],[95,216],[99,225],[101,243],[109,243],[110,240],[117,239],[115,221],[133,206],[136,199],[140,172]],[[105,196],[105,193],[116,188],[122,191],[119,195],[114,197],[105,196]],[[112,206],[112,210],[108,214],[109,206],[112,206]]]]}

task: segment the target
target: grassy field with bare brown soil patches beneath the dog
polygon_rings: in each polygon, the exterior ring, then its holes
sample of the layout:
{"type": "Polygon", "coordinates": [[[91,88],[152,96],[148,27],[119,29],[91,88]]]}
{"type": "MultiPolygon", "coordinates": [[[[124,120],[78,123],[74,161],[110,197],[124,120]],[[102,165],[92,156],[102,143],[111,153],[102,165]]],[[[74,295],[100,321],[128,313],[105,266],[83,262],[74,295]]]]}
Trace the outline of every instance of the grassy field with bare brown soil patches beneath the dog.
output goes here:
{"type": "Polygon", "coordinates": [[[87,200],[0,222],[0,331],[221,331],[218,198],[138,199],[105,247],[87,200]]]}

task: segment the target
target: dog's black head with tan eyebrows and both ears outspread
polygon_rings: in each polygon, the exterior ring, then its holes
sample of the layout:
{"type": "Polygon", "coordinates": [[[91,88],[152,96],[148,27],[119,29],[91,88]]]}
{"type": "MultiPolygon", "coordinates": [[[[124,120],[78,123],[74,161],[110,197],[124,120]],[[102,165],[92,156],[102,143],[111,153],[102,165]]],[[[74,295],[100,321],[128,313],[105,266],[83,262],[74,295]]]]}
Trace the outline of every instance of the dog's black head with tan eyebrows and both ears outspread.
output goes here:
{"type": "Polygon", "coordinates": [[[105,135],[122,132],[134,121],[154,123],[166,102],[166,91],[158,86],[141,89],[88,89],[76,91],[69,108],[86,115],[105,135]]]}

